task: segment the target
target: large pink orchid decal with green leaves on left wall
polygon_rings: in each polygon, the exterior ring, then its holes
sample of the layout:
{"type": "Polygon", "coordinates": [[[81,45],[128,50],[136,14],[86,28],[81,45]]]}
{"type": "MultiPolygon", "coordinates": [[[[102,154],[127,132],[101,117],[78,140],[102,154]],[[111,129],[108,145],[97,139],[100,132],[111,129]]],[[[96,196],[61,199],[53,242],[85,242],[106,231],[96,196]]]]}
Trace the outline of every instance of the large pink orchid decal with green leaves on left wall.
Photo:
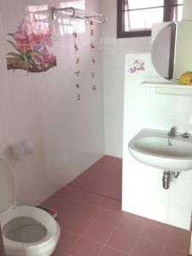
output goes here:
{"type": "Polygon", "coordinates": [[[24,69],[40,73],[56,66],[56,57],[49,53],[53,45],[52,27],[42,21],[22,20],[15,33],[7,40],[15,49],[7,54],[8,69],[24,69]]]}

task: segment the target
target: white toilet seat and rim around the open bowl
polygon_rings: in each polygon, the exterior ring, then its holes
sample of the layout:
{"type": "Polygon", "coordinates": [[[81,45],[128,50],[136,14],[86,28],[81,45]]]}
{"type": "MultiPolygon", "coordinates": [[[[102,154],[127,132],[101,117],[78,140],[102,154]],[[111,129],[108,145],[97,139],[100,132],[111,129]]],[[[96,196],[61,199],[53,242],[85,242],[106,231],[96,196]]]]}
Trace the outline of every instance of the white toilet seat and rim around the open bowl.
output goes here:
{"type": "Polygon", "coordinates": [[[55,219],[52,218],[49,213],[44,212],[37,207],[9,207],[8,209],[4,210],[0,213],[2,230],[6,224],[9,224],[15,218],[31,218],[34,221],[37,221],[39,224],[44,226],[46,229],[46,234],[39,241],[20,242],[10,240],[8,237],[4,236],[5,234],[3,232],[4,246],[7,248],[6,253],[10,253],[10,255],[12,252],[17,252],[18,255],[22,255],[21,252],[26,252],[29,250],[30,252],[34,253],[36,250],[41,250],[43,247],[49,245],[49,243],[59,239],[60,227],[56,223],[55,219]]]}

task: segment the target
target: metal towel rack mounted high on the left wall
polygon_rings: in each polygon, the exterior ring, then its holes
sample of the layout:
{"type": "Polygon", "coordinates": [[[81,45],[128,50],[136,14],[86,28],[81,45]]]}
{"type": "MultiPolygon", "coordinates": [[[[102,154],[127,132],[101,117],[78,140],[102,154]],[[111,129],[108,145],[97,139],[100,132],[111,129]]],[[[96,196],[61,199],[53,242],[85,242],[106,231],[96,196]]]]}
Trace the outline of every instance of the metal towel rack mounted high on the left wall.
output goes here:
{"type": "Polygon", "coordinates": [[[55,17],[70,20],[90,20],[97,23],[104,23],[107,20],[106,15],[100,15],[96,13],[86,12],[83,9],[75,9],[73,7],[66,8],[51,8],[52,19],[55,20],[55,17]]]}

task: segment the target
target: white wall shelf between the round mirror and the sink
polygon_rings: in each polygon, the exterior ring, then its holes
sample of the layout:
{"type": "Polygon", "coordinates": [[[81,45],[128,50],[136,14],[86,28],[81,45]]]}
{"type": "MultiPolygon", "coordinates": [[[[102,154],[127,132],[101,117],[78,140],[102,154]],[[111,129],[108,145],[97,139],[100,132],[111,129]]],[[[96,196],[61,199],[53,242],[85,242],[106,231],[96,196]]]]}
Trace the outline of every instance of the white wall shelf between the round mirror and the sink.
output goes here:
{"type": "Polygon", "coordinates": [[[155,88],[156,94],[192,96],[192,85],[182,85],[171,82],[143,82],[141,85],[144,87],[155,88]]]}

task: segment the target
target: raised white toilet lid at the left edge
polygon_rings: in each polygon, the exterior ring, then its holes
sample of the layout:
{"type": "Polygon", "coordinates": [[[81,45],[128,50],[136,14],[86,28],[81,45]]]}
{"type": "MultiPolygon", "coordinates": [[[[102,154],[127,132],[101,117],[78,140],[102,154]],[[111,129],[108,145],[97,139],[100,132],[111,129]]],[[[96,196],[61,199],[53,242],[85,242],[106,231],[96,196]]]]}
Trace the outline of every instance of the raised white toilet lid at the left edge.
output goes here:
{"type": "Polygon", "coordinates": [[[0,212],[14,204],[15,182],[5,160],[0,158],[0,212]]]}

